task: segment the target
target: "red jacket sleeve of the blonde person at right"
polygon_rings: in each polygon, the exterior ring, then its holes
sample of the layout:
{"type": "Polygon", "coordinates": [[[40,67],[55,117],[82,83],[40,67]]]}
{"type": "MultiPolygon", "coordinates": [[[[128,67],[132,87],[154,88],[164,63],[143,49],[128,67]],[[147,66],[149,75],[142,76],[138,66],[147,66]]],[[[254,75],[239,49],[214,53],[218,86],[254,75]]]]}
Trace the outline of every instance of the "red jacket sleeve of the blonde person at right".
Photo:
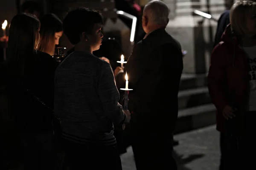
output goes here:
{"type": "Polygon", "coordinates": [[[208,89],[212,103],[222,113],[228,105],[227,92],[227,56],[221,44],[218,44],[212,51],[211,65],[208,74],[208,89]]]}

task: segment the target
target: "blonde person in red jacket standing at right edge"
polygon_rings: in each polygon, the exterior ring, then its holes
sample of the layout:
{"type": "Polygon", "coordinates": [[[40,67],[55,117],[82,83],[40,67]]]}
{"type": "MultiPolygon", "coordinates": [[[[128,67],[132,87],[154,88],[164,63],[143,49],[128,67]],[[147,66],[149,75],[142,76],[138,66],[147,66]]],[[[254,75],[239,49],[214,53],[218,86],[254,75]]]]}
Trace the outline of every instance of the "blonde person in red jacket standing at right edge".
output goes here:
{"type": "Polygon", "coordinates": [[[256,160],[256,3],[238,1],[230,25],[213,49],[208,88],[217,130],[226,136],[220,170],[244,169],[256,160]]]}

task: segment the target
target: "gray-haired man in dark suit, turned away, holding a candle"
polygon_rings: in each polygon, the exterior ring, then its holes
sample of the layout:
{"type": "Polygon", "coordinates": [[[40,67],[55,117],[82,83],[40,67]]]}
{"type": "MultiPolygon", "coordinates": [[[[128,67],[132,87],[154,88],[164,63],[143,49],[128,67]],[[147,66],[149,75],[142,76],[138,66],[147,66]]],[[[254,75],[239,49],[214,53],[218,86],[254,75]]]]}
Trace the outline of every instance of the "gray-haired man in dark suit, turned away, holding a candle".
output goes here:
{"type": "Polygon", "coordinates": [[[137,170],[176,170],[172,157],[172,133],[178,113],[177,95],[183,70],[180,43],[165,28],[169,8],[159,0],[150,1],[143,11],[146,33],[138,42],[125,68],[116,68],[117,87],[129,77],[131,145],[137,170]],[[171,83],[169,82],[171,80],[171,83]]]}

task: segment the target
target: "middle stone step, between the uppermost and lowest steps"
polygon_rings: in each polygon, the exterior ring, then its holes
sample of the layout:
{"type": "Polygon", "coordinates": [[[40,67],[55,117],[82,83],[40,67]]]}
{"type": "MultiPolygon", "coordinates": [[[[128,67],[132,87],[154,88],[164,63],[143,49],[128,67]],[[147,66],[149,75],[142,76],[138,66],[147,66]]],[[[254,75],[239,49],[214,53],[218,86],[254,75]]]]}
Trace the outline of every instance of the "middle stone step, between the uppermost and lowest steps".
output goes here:
{"type": "Polygon", "coordinates": [[[207,87],[179,91],[179,109],[191,108],[211,103],[207,87]]]}

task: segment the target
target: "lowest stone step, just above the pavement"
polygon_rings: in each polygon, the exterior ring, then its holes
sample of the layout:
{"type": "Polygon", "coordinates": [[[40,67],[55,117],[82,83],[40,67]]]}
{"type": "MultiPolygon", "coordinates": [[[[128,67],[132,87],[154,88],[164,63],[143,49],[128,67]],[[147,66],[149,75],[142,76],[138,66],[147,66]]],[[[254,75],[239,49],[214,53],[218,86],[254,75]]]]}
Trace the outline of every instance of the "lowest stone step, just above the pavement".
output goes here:
{"type": "Polygon", "coordinates": [[[175,134],[214,125],[215,114],[216,109],[212,104],[182,109],[178,113],[175,134]]]}

